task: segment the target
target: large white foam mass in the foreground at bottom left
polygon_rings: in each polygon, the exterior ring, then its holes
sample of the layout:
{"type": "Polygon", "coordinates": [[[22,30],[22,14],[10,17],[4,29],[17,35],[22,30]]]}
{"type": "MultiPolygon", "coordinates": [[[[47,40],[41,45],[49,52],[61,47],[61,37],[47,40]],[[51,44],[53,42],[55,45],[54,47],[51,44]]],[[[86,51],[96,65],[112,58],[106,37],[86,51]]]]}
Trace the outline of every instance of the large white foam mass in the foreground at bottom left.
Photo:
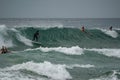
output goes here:
{"type": "Polygon", "coordinates": [[[72,79],[66,68],[73,69],[74,67],[91,68],[94,65],[79,65],[79,64],[52,64],[44,61],[43,63],[35,63],[29,61],[22,64],[13,65],[0,69],[1,80],[68,80],[72,79]],[[21,72],[29,71],[29,72],[21,72]],[[32,72],[36,75],[32,75],[32,72]],[[43,77],[42,77],[43,76],[43,77]],[[46,77],[44,77],[46,76],[46,77]]]}

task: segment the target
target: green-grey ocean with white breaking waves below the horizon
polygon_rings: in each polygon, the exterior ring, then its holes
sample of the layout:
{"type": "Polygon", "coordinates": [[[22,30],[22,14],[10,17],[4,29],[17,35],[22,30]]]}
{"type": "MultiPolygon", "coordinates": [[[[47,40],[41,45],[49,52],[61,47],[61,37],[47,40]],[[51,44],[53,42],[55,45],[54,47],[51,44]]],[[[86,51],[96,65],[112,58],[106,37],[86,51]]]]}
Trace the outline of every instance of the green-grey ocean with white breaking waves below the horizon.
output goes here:
{"type": "Polygon", "coordinates": [[[120,80],[119,18],[0,19],[2,46],[0,80],[120,80]]]}

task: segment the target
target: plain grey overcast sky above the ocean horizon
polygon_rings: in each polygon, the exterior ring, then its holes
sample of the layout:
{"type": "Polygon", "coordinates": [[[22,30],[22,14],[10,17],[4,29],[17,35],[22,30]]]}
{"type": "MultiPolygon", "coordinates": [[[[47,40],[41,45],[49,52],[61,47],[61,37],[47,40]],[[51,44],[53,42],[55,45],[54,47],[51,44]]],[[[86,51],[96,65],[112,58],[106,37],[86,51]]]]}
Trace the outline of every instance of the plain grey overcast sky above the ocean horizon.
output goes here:
{"type": "Polygon", "coordinates": [[[0,18],[120,18],[120,0],[0,0],[0,18]]]}

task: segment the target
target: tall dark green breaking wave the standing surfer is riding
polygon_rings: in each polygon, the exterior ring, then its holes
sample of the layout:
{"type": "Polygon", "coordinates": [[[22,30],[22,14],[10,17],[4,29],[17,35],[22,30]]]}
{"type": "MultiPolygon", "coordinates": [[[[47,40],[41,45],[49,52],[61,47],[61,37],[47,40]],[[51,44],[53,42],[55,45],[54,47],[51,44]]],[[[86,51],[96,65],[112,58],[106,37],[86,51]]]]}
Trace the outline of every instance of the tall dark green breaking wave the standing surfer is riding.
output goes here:
{"type": "Polygon", "coordinates": [[[82,32],[78,28],[7,28],[5,25],[0,28],[0,43],[7,47],[16,47],[16,49],[21,49],[22,46],[25,46],[24,48],[38,46],[31,42],[37,30],[40,33],[39,42],[43,47],[77,45],[82,48],[120,48],[120,30],[89,29],[82,32]]]}

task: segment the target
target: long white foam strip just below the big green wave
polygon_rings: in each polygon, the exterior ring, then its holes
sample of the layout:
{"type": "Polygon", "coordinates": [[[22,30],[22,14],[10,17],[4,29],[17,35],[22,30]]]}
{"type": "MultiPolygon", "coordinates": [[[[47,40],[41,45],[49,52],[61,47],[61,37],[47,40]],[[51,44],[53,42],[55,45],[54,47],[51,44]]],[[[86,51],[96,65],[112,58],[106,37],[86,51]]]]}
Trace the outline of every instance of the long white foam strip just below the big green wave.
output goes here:
{"type": "Polygon", "coordinates": [[[86,49],[86,48],[80,48],[78,46],[72,46],[70,48],[67,47],[39,47],[35,49],[26,49],[25,51],[32,51],[32,50],[40,50],[42,52],[50,52],[50,51],[56,51],[56,52],[61,52],[67,55],[82,55],[84,54],[84,51],[96,51],[98,54],[103,54],[105,56],[109,57],[118,57],[120,58],[120,49],[109,49],[109,48],[103,48],[103,49],[97,49],[97,48],[92,48],[92,49],[86,49]]]}

